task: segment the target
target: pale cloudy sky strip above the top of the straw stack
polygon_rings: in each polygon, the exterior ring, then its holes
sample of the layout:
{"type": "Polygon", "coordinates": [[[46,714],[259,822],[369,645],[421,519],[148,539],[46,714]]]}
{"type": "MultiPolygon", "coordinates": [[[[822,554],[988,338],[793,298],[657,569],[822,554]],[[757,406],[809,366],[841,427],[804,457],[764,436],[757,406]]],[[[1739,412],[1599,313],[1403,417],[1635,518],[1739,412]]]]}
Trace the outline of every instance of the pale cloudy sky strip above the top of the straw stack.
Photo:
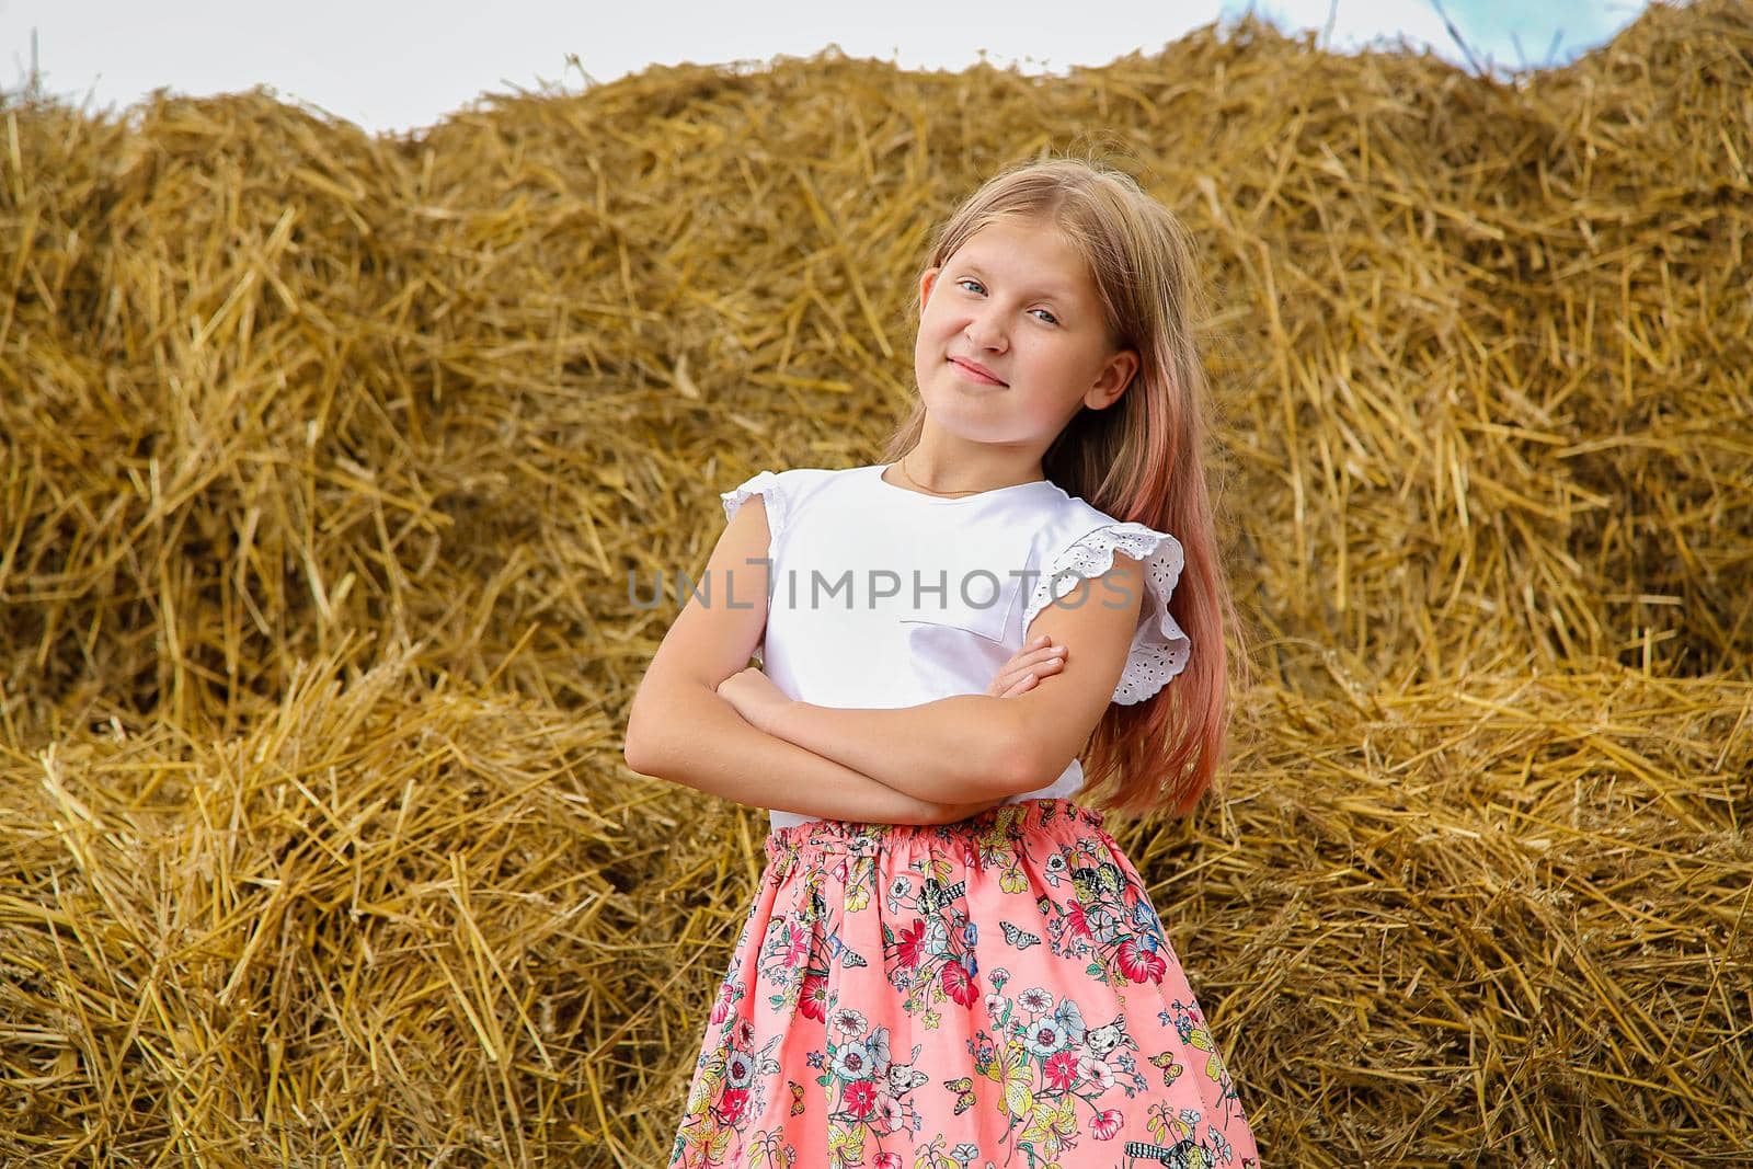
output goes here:
{"type": "Polygon", "coordinates": [[[0,89],[30,79],[35,32],[40,88],[93,110],[160,86],[212,95],[263,84],[370,131],[408,131],[482,93],[577,93],[652,63],[766,63],[831,44],[903,68],[983,58],[1064,74],[1160,53],[1250,9],[1285,32],[1313,28],[1332,49],[1406,37],[1467,67],[1439,4],[1476,60],[1508,68],[1564,65],[1643,11],[1632,0],[0,0],[0,89]]]}

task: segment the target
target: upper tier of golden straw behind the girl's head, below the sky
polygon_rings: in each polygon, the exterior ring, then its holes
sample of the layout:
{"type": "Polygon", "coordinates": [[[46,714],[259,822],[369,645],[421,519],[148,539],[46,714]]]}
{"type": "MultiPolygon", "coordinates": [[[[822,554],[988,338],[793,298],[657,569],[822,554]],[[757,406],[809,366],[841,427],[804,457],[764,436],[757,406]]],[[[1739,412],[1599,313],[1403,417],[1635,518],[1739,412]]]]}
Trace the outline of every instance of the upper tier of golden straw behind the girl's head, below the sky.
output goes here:
{"type": "Polygon", "coordinates": [[[624,689],[636,647],[578,650],[649,622],[624,570],[698,563],[738,471],[866,457],[931,224],[1092,124],[1211,261],[1280,668],[1744,671],[1748,25],[1653,9],[1515,84],[1253,23],[1057,82],[822,54],[407,140],[11,109],[7,692],[230,729],[280,645],[410,629],[624,689]]]}

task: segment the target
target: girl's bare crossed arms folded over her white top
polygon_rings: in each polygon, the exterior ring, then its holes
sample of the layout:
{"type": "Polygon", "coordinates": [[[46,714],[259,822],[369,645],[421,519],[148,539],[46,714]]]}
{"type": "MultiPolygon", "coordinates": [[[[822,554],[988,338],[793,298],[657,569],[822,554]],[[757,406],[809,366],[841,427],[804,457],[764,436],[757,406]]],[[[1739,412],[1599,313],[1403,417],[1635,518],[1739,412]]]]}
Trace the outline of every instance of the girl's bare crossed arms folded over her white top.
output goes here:
{"type": "Polygon", "coordinates": [[[801,815],[941,824],[1050,783],[1106,710],[1143,599],[1143,566],[1120,556],[1099,582],[1106,603],[1089,603],[1097,582],[1080,582],[1041,610],[1027,634],[1078,652],[1033,687],[896,710],[815,706],[745,668],[766,627],[766,549],[764,507],[749,499],[706,575],[759,599],[745,608],[689,601],[633,699],[626,759],[643,775],[801,815]]]}

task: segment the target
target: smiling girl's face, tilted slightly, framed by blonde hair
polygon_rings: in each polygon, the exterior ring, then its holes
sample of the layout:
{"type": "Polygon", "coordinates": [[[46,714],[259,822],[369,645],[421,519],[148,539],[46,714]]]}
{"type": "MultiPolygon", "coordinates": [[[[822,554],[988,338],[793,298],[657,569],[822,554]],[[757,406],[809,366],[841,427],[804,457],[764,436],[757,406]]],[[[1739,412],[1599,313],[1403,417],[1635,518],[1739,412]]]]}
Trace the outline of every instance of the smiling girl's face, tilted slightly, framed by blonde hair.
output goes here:
{"type": "Polygon", "coordinates": [[[1138,368],[1134,351],[1108,347],[1096,280],[1047,224],[989,223],[926,272],[920,300],[919,391],[931,421],[969,442],[1038,456],[1078,410],[1111,405],[1138,368]]]}

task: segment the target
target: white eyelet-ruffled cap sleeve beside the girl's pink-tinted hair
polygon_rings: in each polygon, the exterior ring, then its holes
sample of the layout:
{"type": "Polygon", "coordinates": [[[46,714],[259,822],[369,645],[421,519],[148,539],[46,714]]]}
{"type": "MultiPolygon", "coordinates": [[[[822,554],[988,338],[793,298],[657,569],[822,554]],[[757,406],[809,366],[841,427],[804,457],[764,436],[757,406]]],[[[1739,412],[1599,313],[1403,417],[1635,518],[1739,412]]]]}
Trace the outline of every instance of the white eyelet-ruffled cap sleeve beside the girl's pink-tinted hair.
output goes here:
{"type": "Polygon", "coordinates": [[[1083,533],[1041,573],[1022,613],[1022,629],[1027,636],[1036,613],[1071,592],[1076,587],[1075,580],[1099,580],[1113,568],[1115,552],[1145,563],[1145,601],[1139,605],[1138,629],[1125,655],[1125,670],[1120,671],[1120,684],[1113,691],[1113,701],[1131,706],[1167,685],[1187,668],[1192,654],[1192,641],[1169,613],[1169,596],[1187,563],[1180,540],[1134,522],[1103,524],[1083,533]]]}

